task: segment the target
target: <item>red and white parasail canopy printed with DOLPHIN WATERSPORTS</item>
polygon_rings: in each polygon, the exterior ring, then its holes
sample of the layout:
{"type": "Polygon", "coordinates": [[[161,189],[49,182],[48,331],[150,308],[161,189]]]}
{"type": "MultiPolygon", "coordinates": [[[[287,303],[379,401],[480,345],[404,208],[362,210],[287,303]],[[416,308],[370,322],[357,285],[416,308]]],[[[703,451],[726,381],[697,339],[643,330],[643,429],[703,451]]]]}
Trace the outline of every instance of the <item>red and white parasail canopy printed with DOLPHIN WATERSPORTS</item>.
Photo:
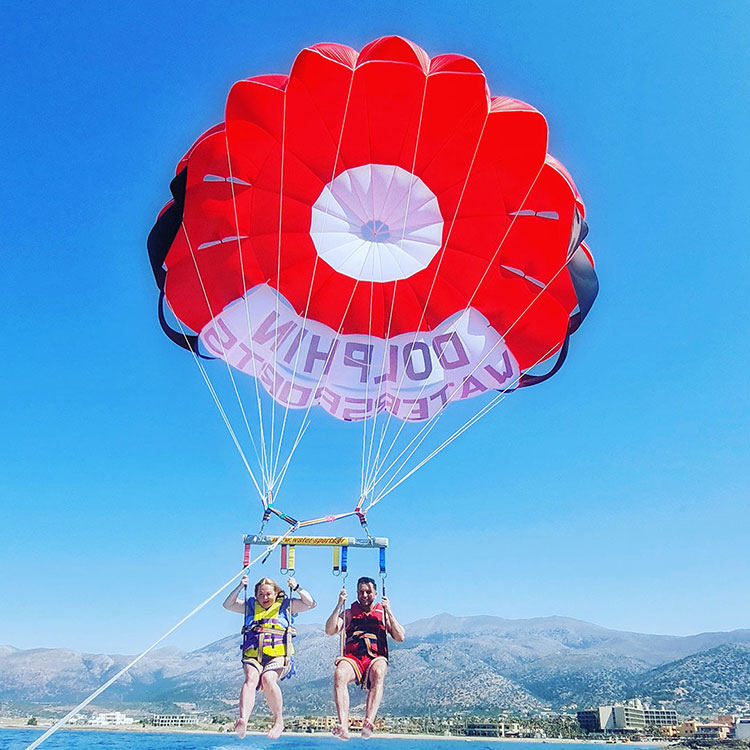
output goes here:
{"type": "Polygon", "coordinates": [[[285,415],[427,423],[539,382],[598,290],[542,114],[400,37],[237,82],[172,193],[149,238],[171,337],[285,415]]]}

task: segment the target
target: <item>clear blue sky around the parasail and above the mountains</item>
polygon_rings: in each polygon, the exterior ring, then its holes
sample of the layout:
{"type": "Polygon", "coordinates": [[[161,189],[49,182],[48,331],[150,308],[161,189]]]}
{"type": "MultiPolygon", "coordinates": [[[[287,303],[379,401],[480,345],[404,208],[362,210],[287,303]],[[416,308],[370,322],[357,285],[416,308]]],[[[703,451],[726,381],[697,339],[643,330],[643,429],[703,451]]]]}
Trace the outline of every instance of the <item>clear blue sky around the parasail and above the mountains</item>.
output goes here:
{"type": "MultiPolygon", "coordinates": [[[[555,378],[373,509],[397,614],[750,627],[747,4],[32,1],[0,26],[1,644],[137,652],[241,567],[257,498],[158,327],[145,238],[235,80],[393,33],[544,112],[601,282],[555,378]]],[[[355,499],[340,427],[315,420],[290,512],[355,499]]],[[[308,621],[335,601],[329,554],[298,551],[308,621]]],[[[217,604],[170,643],[236,619],[217,604]]]]}

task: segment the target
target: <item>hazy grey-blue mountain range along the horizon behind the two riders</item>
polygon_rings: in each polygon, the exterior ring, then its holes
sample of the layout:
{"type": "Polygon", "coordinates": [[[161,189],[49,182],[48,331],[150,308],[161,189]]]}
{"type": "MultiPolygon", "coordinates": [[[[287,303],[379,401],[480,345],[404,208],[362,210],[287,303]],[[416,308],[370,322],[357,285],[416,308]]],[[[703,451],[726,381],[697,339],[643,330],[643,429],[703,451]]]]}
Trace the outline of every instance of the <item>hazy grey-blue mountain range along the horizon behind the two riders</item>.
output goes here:
{"type": "MultiPolygon", "coordinates": [[[[338,639],[303,625],[297,675],[285,691],[292,713],[332,712],[338,639]]],[[[242,669],[231,636],[185,653],[164,648],[137,664],[97,703],[169,709],[175,701],[229,712],[242,669]]],[[[131,657],[0,646],[0,701],[74,703],[131,657]]],[[[673,701],[686,715],[731,711],[750,701],[750,630],[699,635],[629,633],[566,617],[507,620],[441,614],[407,626],[392,644],[383,711],[392,714],[534,713],[575,710],[638,695],[673,701]]],[[[364,694],[352,693],[352,705],[364,694]]]]}

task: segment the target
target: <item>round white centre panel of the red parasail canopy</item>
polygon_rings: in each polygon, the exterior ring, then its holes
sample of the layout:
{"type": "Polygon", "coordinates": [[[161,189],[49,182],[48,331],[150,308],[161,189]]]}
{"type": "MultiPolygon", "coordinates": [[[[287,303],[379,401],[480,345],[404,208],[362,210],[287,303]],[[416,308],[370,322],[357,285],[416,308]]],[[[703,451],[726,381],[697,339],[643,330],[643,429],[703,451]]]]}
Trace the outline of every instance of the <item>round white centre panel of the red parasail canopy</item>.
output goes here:
{"type": "Polygon", "coordinates": [[[397,281],[422,271],[443,241],[435,194],[393,164],[347,169],[312,207],[310,236],[318,255],[360,281],[397,281]]]}

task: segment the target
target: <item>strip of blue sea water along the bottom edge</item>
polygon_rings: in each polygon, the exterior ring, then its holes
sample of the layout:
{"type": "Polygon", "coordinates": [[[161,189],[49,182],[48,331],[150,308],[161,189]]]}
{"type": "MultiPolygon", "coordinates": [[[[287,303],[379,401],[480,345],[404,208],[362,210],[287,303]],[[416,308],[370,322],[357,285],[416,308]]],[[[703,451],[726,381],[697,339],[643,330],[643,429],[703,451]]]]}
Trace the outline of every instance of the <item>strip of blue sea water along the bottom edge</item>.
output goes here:
{"type": "MultiPolygon", "coordinates": [[[[24,750],[41,730],[0,729],[0,750],[24,750]]],[[[42,743],[46,750],[459,750],[465,743],[470,750],[573,750],[570,742],[524,742],[503,740],[495,742],[482,737],[455,739],[378,738],[367,740],[354,734],[348,745],[325,734],[309,737],[287,735],[269,740],[262,735],[248,735],[239,739],[234,734],[188,734],[182,732],[96,732],[61,730],[42,743]]],[[[587,742],[586,750],[612,750],[605,743],[587,742]]],[[[639,746],[639,750],[656,750],[657,746],[639,746]]]]}

